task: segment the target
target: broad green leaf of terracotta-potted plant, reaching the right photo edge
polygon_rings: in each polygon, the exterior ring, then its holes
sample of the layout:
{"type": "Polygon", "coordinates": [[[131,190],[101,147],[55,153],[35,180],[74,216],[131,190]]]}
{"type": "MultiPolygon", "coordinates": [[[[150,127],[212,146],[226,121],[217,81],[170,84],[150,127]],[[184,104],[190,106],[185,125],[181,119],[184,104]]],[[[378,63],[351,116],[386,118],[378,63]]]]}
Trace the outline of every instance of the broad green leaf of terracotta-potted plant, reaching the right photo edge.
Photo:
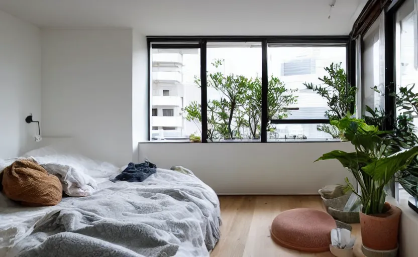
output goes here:
{"type": "Polygon", "coordinates": [[[418,155],[418,146],[376,160],[362,169],[372,176],[373,180],[381,180],[386,184],[396,172],[405,169],[416,155],[418,155]]]}

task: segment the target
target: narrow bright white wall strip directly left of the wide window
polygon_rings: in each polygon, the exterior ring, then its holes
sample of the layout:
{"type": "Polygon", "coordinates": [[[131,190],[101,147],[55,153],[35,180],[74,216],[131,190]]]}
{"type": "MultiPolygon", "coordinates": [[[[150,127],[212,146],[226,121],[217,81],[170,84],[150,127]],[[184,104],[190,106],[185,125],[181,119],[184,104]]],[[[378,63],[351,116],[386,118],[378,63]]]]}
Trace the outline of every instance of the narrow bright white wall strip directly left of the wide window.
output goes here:
{"type": "Polygon", "coordinates": [[[148,48],[147,39],[133,32],[132,55],[132,160],[138,162],[138,142],[148,140],[148,48]]]}

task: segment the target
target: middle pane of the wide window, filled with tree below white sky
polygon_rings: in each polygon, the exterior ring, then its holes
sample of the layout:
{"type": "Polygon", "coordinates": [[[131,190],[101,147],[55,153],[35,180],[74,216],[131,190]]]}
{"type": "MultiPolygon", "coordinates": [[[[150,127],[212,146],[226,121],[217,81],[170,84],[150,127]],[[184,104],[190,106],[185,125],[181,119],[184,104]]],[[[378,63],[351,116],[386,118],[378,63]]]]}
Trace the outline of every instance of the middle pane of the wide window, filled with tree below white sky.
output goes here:
{"type": "Polygon", "coordinates": [[[207,43],[208,142],[260,140],[261,42],[207,43]]]}

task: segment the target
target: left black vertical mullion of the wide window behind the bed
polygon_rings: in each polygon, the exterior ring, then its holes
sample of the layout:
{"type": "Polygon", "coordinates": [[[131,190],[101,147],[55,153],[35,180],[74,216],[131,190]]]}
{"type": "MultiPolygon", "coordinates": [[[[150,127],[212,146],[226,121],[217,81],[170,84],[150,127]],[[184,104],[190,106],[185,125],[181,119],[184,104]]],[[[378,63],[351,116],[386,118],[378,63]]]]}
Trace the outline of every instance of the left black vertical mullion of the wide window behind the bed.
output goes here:
{"type": "Polygon", "coordinates": [[[207,76],[206,76],[206,44],[207,41],[200,42],[200,99],[202,116],[202,143],[207,143],[207,76]]]}

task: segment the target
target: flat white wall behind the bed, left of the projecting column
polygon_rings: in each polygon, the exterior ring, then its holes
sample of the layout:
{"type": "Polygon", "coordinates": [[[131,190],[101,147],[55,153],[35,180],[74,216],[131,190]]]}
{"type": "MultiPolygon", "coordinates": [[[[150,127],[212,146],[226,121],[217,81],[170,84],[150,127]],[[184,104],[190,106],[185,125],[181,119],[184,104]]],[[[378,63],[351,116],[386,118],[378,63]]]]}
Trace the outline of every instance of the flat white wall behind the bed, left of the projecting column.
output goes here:
{"type": "Polygon", "coordinates": [[[72,137],[82,154],[132,161],[131,29],[42,31],[44,137],[72,137]]]}

